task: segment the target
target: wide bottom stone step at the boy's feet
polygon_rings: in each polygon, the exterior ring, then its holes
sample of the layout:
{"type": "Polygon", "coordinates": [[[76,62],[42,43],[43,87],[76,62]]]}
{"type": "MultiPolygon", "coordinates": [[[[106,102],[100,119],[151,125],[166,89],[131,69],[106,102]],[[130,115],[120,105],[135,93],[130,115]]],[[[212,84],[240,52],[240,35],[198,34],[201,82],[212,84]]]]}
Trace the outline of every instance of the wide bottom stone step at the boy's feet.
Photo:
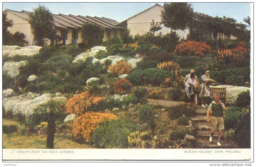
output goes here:
{"type": "Polygon", "coordinates": [[[236,145],[229,143],[229,142],[225,142],[224,140],[220,141],[221,146],[217,145],[217,140],[213,140],[211,143],[209,142],[209,140],[206,139],[200,139],[197,140],[197,147],[198,148],[204,148],[204,149],[216,149],[216,148],[220,148],[220,149],[229,149],[229,148],[237,148],[236,145]]]}

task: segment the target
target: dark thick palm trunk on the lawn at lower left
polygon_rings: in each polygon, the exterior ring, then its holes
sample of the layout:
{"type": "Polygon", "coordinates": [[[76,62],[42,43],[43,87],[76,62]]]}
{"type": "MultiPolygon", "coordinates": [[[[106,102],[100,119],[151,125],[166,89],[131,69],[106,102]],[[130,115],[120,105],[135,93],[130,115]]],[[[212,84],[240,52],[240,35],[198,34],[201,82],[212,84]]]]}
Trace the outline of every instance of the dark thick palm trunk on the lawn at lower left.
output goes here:
{"type": "Polygon", "coordinates": [[[53,109],[51,109],[48,115],[48,127],[47,127],[47,139],[46,139],[46,148],[53,149],[53,141],[54,141],[54,133],[55,133],[55,115],[53,109]]]}

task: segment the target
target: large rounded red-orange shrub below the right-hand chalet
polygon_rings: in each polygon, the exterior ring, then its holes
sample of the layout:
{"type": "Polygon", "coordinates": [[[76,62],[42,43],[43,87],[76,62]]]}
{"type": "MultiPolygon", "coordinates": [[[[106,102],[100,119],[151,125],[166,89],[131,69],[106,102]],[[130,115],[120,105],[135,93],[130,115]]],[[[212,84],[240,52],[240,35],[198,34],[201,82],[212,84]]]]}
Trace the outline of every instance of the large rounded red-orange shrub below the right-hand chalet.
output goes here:
{"type": "Polygon", "coordinates": [[[209,50],[210,46],[206,42],[187,41],[178,44],[174,52],[179,55],[203,57],[209,50]]]}

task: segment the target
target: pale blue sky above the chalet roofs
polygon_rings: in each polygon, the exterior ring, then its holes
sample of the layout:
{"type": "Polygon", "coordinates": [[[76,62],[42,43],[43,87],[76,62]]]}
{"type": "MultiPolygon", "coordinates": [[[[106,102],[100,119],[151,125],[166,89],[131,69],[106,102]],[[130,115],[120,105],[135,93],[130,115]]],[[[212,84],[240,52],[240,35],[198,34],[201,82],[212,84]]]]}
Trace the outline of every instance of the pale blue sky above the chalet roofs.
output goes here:
{"type": "MultiPolygon", "coordinates": [[[[25,2],[25,3],[2,3],[3,10],[26,10],[33,11],[33,8],[38,6],[39,2],[25,2]]],[[[82,16],[98,16],[107,17],[116,21],[123,21],[143,10],[155,5],[156,2],[146,3],[108,3],[108,2],[95,2],[95,3],[41,3],[49,8],[53,14],[72,14],[82,16]]],[[[163,3],[158,3],[163,5],[163,3]]],[[[194,12],[201,12],[210,16],[226,16],[232,17],[238,23],[243,22],[243,18],[251,16],[250,3],[191,3],[194,7],[194,12]]]]}

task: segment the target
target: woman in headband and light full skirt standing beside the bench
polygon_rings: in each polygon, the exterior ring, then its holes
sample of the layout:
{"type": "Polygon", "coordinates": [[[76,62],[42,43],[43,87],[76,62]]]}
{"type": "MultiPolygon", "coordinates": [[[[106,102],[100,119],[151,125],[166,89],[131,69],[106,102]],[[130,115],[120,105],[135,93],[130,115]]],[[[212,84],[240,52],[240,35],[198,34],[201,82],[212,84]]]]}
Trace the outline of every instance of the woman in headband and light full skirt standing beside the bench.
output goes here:
{"type": "Polygon", "coordinates": [[[201,76],[202,89],[199,94],[199,97],[201,97],[201,100],[202,100],[202,107],[209,107],[207,104],[207,98],[212,98],[212,93],[210,91],[210,83],[215,82],[215,81],[210,79],[209,74],[210,74],[210,71],[206,71],[205,74],[201,76]]]}

